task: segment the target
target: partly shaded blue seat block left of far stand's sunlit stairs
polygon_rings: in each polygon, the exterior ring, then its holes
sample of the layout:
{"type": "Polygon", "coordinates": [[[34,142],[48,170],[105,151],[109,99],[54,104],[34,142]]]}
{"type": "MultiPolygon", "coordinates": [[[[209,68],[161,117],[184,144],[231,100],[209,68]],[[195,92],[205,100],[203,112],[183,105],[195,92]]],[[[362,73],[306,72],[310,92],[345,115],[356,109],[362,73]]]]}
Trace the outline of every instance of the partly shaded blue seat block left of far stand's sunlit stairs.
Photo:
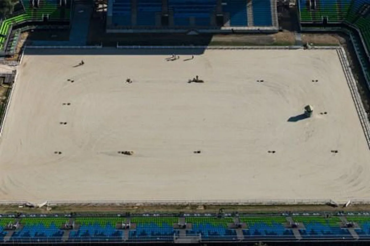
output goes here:
{"type": "Polygon", "coordinates": [[[248,25],[246,0],[225,0],[222,11],[229,13],[231,27],[248,25]]]}

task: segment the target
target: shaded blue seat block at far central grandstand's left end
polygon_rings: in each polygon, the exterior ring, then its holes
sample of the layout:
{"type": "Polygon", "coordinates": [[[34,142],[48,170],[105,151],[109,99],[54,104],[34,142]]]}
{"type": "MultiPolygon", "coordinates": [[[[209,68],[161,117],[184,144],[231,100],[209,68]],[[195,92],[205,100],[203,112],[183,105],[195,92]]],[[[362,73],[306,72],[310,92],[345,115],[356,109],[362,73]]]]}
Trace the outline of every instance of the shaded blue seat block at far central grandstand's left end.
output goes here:
{"type": "Polygon", "coordinates": [[[131,2],[127,0],[114,0],[112,10],[112,24],[115,26],[131,25],[131,2]]]}

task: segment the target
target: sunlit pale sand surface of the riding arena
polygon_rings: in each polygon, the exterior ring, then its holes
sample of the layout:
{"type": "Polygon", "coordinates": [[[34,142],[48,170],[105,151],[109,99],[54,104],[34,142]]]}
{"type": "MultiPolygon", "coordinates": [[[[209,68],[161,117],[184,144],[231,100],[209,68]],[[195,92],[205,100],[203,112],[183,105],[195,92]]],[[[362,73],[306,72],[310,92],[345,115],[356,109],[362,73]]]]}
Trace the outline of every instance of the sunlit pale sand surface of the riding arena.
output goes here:
{"type": "Polygon", "coordinates": [[[370,195],[370,151],[334,50],[186,62],[37,52],[25,53],[0,139],[0,200],[370,195]],[[195,75],[206,83],[186,83],[195,75]],[[314,116],[288,122],[306,104],[314,116]]]}

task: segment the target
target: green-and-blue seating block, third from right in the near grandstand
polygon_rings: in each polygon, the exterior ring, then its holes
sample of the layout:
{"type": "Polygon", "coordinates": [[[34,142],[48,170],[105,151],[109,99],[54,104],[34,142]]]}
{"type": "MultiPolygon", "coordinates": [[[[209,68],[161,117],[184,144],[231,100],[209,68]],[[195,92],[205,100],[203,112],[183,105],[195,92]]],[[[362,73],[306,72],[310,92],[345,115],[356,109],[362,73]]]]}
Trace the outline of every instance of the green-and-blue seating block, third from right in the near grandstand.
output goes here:
{"type": "Polygon", "coordinates": [[[295,238],[292,230],[285,228],[287,220],[284,216],[240,217],[240,222],[246,223],[248,227],[248,229],[243,230],[243,235],[245,238],[295,238]]]}

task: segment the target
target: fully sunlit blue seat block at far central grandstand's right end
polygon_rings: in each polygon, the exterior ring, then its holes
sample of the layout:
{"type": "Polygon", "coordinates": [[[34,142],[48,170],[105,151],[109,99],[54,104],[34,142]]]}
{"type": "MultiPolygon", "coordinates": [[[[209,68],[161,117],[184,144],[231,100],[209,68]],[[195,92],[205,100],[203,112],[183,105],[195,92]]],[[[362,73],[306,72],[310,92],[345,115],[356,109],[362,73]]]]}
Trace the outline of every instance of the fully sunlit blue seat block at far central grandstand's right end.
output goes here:
{"type": "Polygon", "coordinates": [[[271,26],[271,2],[270,0],[252,0],[253,23],[255,26],[271,26]]]}

